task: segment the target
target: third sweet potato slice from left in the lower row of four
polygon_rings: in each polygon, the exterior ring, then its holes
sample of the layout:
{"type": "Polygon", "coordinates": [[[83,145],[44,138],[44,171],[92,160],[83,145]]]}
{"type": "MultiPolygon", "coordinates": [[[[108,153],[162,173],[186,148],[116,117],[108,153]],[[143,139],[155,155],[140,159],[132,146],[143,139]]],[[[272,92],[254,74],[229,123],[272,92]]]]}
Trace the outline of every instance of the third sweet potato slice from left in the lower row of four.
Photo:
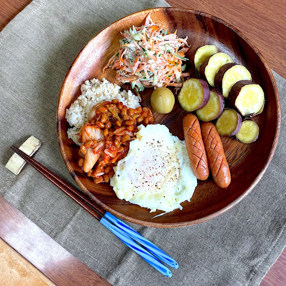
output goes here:
{"type": "Polygon", "coordinates": [[[241,127],[241,116],[234,109],[225,109],[215,123],[220,135],[234,136],[241,127]]]}

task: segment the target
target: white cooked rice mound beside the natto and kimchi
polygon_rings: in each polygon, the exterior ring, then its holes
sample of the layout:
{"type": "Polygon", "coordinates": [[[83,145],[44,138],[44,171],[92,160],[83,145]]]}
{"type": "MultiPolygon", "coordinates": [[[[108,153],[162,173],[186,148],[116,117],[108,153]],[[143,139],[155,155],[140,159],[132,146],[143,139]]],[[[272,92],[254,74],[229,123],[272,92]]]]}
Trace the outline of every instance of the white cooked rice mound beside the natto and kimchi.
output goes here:
{"type": "Polygon", "coordinates": [[[81,95],[71,104],[66,110],[66,120],[72,128],[69,128],[68,137],[74,143],[78,142],[78,133],[80,128],[88,122],[88,114],[94,105],[103,102],[117,99],[122,101],[128,108],[136,108],[139,106],[139,98],[130,90],[120,91],[120,86],[110,83],[105,78],[102,81],[98,79],[86,80],[80,87],[81,95]]]}

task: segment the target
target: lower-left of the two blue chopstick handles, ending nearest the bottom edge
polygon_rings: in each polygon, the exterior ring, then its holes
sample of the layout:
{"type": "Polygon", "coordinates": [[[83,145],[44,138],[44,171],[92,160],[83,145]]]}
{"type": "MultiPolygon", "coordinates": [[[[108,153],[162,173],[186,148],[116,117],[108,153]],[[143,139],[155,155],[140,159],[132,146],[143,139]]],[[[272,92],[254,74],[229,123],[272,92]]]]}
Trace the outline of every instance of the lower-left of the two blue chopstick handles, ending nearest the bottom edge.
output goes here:
{"type": "Polygon", "coordinates": [[[147,250],[138,245],[134,240],[132,240],[127,234],[125,234],[121,229],[117,226],[113,225],[110,221],[106,220],[104,217],[100,220],[100,222],[108,228],[112,233],[114,233],[123,243],[125,243],[128,247],[138,253],[146,262],[148,262],[151,266],[161,272],[163,275],[167,277],[172,277],[172,273],[170,269],[164,266],[156,257],[150,254],[147,250]]]}

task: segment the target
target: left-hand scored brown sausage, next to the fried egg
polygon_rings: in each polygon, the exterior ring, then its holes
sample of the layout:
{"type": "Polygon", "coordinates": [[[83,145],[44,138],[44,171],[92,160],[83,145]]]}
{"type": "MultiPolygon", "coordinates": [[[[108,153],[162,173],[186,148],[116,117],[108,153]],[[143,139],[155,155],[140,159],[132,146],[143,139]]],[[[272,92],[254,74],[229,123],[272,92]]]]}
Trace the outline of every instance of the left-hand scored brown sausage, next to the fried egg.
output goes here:
{"type": "Polygon", "coordinates": [[[199,180],[206,180],[209,166],[198,118],[194,114],[187,114],[183,119],[183,128],[192,170],[199,180]]]}

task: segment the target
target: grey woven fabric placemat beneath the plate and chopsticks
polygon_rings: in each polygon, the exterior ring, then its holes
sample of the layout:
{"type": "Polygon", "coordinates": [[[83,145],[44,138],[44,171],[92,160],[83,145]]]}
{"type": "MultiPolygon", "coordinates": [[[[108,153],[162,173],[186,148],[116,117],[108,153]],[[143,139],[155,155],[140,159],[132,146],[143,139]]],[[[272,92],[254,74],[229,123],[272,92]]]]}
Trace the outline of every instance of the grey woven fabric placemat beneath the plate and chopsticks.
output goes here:
{"type": "MultiPolygon", "coordinates": [[[[286,80],[274,73],[282,108],[280,139],[254,190],[228,212],[179,229],[132,225],[171,254],[180,267],[166,278],[30,166],[4,168],[9,146],[34,135],[35,159],[75,185],[56,136],[63,78],[84,44],[132,12],[168,6],[162,0],[34,0],[0,33],[0,194],[74,256],[113,285],[259,285],[286,244],[286,80]]],[[[1,210],[0,210],[1,211],[1,210]]]]}

